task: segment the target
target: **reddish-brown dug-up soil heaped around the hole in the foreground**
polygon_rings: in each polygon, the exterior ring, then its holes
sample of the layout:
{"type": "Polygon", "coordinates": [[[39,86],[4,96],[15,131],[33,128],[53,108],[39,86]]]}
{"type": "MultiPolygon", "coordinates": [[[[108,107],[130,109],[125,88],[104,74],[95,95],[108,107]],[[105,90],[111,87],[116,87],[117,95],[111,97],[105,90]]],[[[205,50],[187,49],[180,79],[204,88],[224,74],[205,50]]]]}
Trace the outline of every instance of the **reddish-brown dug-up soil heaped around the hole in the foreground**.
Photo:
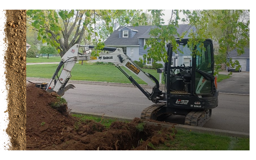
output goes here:
{"type": "Polygon", "coordinates": [[[53,109],[51,104],[57,100],[54,93],[27,87],[27,150],[153,150],[150,146],[173,140],[177,132],[174,127],[147,125],[139,132],[139,118],[105,128],[53,109]]]}

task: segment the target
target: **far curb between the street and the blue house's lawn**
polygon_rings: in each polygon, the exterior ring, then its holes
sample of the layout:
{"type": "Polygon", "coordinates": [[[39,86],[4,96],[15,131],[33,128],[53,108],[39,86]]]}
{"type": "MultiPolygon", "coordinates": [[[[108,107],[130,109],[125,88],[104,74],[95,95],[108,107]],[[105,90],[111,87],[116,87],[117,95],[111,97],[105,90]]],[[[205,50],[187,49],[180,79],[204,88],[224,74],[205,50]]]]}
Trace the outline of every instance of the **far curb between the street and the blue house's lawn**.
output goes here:
{"type": "MultiPolygon", "coordinates": [[[[27,77],[27,80],[36,80],[36,81],[46,81],[50,82],[50,78],[34,78],[27,77]]],[[[77,84],[95,84],[95,85],[110,85],[110,86],[121,86],[121,87],[136,87],[133,84],[129,83],[115,83],[115,82],[96,82],[96,81],[78,81],[78,80],[69,80],[68,83],[77,83],[77,84]]],[[[142,88],[152,88],[148,84],[140,84],[142,88]]],[[[164,89],[164,85],[160,85],[159,89],[164,89]]]]}

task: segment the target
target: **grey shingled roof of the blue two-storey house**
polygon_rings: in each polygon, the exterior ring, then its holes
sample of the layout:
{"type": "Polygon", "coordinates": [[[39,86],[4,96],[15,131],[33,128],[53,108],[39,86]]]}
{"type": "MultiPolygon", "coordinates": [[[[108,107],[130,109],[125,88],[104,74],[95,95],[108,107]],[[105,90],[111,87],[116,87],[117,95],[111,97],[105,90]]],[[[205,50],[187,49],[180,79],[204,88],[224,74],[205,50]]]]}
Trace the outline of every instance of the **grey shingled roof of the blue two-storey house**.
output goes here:
{"type": "MultiPolygon", "coordinates": [[[[117,28],[104,42],[105,45],[139,45],[139,38],[149,38],[149,31],[152,28],[155,28],[156,26],[137,26],[132,27],[128,26],[127,28],[130,28],[131,30],[138,31],[132,38],[119,38],[119,31],[120,29],[124,28],[124,26],[117,28]]],[[[181,35],[183,32],[189,30],[191,28],[190,25],[183,24],[179,25],[179,28],[177,28],[177,32],[181,35]]],[[[174,35],[177,36],[177,35],[174,35]]]]}

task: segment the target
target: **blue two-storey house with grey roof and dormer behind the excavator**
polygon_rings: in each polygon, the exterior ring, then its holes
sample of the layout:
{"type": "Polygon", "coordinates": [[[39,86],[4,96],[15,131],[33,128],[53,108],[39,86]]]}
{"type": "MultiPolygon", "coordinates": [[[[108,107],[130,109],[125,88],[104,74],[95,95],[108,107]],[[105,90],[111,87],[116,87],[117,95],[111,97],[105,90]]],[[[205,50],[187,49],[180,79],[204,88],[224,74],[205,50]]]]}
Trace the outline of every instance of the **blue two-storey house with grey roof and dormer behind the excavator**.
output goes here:
{"type": "MultiPolygon", "coordinates": [[[[147,47],[144,50],[144,44],[146,43],[147,39],[150,38],[149,31],[155,28],[155,26],[138,26],[138,27],[118,27],[115,24],[115,31],[108,37],[108,39],[104,42],[105,46],[109,47],[118,47],[122,48],[124,54],[128,55],[132,60],[139,61],[139,58],[143,59],[143,54],[148,54],[148,50],[150,47],[147,47]]],[[[182,33],[186,31],[190,31],[190,25],[179,25],[177,28],[177,32],[182,35],[182,33]]],[[[175,35],[174,35],[175,36],[175,35]]],[[[188,37],[187,35],[185,37],[188,37]]],[[[178,39],[179,37],[176,36],[178,39]]],[[[192,59],[190,55],[190,51],[188,48],[183,48],[182,46],[179,47],[180,50],[183,50],[184,54],[178,52],[179,58],[174,61],[174,64],[181,65],[185,64],[185,66],[189,66],[189,60],[192,59]]],[[[166,47],[167,50],[167,47],[166,47]]],[[[173,57],[175,53],[173,52],[173,57]]],[[[147,65],[152,65],[154,60],[146,60],[147,65]]],[[[173,59],[172,59],[173,61],[173,59]]],[[[158,62],[164,64],[163,61],[158,62]]],[[[177,66],[175,65],[175,66],[177,66]]]]}

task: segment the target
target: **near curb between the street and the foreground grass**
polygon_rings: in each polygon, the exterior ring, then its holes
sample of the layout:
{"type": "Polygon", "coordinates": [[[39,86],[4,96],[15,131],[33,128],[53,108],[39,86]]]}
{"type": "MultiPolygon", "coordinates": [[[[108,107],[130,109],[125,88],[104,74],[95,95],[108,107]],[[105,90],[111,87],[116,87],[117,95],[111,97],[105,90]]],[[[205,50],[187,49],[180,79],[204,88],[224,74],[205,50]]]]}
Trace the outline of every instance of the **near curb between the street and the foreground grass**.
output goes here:
{"type": "MultiPolygon", "coordinates": [[[[81,111],[72,111],[72,114],[80,114],[80,115],[87,115],[87,116],[96,116],[96,117],[102,117],[102,114],[97,113],[89,113],[89,112],[81,112],[81,111]]],[[[127,118],[124,116],[108,116],[104,115],[105,118],[108,119],[116,119],[119,121],[132,121],[133,118],[127,118]]],[[[172,124],[161,124],[161,123],[155,123],[155,122],[147,122],[143,121],[147,125],[155,125],[155,126],[162,126],[164,128],[172,128],[172,124]]],[[[225,136],[232,136],[232,137],[243,137],[243,138],[250,138],[250,133],[244,133],[244,132],[236,132],[236,131],[227,131],[227,130],[220,130],[220,129],[212,129],[212,128],[204,128],[204,127],[196,127],[196,126],[189,126],[189,125],[183,125],[183,124],[176,124],[175,127],[177,129],[184,129],[187,131],[192,132],[203,132],[203,133],[212,133],[215,135],[225,135],[225,136]]]]}

